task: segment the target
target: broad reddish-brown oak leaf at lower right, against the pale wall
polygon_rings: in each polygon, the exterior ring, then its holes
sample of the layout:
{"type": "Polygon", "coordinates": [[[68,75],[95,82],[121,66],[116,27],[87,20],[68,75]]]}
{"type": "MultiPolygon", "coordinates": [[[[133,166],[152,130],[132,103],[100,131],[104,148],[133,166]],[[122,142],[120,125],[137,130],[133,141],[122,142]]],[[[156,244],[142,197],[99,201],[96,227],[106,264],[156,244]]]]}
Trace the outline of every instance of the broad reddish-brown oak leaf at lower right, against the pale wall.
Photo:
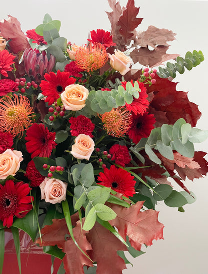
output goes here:
{"type": "Polygon", "coordinates": [[[118,229],[123,239],[128,236],[131,246],[136,250],[140,250],[143,243],[151,245],[153,239],[163,239],[164,225],[157,220],[158,212],[152,209],[141,212],[143,202],[138,201],[129,208],[107,204],[117,214],[109,223],[118,229]]]}

